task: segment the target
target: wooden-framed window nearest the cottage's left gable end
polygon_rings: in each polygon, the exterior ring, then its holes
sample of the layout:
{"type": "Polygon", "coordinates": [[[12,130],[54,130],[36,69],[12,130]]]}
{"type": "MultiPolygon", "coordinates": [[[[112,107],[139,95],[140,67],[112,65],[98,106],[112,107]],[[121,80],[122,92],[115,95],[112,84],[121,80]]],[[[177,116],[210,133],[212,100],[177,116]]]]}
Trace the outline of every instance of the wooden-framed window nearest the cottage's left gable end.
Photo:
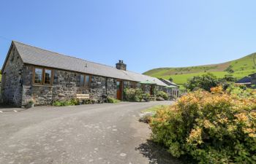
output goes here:
{"type": "Polygon", "coordinates": [[[51,85],[52,76],[51,69],[34,68],[34,84],[51,85]]]}

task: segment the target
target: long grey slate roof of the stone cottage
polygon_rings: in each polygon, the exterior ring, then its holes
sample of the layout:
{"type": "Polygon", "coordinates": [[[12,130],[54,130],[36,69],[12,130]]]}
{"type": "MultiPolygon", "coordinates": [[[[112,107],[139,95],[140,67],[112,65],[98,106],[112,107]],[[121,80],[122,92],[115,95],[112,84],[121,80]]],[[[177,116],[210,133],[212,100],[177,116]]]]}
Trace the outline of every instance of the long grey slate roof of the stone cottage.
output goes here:
{"type": "Polygon", "coordinates": [[[81,73],[94,74],[102,77],[126,79],[134,82],[143,82],[149,80],[157,83],[157,85],[167,86],[164,82],[155,77],[149,77],[132,71],[119,70],[112,66],[94,63],[68,55],[61,55],[56,52],[43,50],[41,48],[33,47],[31,45],[16,41],[12,41],[12,44],[14,44],[18,50],[23,63],[46,66],[54,69],[64,69],[67,71],[78,71],[81,73]]]}

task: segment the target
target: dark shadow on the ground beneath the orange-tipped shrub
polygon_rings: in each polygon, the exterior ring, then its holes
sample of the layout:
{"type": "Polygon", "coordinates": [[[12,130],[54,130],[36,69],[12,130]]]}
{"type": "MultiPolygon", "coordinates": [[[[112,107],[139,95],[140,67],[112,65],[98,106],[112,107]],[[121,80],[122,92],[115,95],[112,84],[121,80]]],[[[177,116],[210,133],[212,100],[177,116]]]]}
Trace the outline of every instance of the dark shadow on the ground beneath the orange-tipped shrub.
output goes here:
{"type": "Polygon", "coordinates": [[[147,157],[149,164],[181,164],[181,161],[172,157],[166,149],[150,140],[146,141],[146,143],[140,144],[140,146],[136,147],[135,150],[139,151],[144,157],[147,157]]]}

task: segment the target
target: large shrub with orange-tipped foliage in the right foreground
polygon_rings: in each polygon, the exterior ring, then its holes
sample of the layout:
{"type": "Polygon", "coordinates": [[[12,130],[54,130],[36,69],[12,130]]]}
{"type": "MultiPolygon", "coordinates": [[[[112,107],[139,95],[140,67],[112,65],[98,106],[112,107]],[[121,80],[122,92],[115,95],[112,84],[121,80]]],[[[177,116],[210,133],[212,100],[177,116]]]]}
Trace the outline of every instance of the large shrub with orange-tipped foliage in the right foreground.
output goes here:
{"type": "Polygon", "coordinates": [[[199,163],[256,163],[256,98],[221,87],[198,90],[159,109],[151,119],[152,138],[174,157],[199,163]]]}

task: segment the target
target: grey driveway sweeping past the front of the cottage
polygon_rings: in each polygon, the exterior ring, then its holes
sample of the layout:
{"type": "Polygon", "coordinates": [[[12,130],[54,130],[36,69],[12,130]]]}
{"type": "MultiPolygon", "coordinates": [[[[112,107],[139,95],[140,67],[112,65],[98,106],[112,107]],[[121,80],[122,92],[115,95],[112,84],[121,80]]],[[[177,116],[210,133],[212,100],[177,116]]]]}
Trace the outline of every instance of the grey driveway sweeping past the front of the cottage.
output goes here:
{"type": "Polygon", "coordinates": [[[138,122],[149,103],[39,106],[0,113],[0,163],[178,163],[147,141],[148,125],[138,122]]]}

